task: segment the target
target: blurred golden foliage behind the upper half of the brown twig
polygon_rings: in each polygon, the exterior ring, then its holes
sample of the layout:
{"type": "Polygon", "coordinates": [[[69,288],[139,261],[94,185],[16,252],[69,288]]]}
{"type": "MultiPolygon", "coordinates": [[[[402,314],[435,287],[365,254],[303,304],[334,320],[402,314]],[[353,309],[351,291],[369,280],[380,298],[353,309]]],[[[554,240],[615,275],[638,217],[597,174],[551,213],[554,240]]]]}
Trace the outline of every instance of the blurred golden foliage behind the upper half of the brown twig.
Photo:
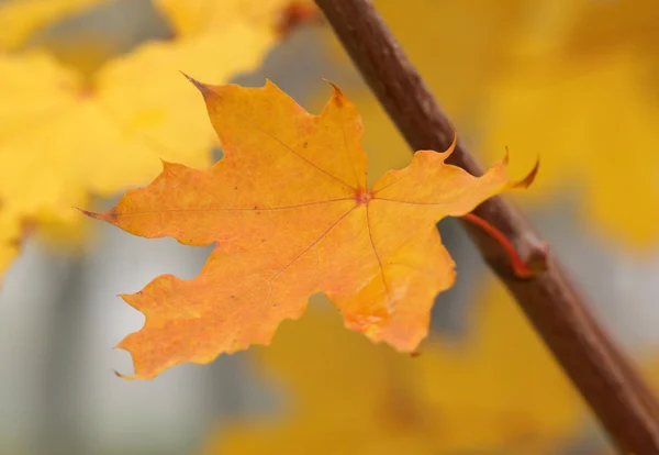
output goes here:
{"type": "MultiPolygon", "coordinates": [[[[490,163],[509,146],[513,173],[540,156],[520,199],[574,199],[583,229],[639,253],[656,245],[656,1],[377,3],[471,148],[490,163]]],[[[367,130],[382,131],[369,147],[396,151],[377,174],[402,166],[400,134],[372,97],[359,101],[367,130]]]]}

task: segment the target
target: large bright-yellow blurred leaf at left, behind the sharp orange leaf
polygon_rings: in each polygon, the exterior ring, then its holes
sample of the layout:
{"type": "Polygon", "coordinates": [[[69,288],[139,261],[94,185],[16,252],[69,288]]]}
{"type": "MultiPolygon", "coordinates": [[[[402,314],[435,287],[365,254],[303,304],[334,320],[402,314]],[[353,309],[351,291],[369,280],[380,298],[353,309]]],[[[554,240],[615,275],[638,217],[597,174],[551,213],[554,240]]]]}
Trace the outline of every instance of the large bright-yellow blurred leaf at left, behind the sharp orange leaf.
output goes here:
{"type": "Polygon", "coordinates": [[[179,70],[226,82],[277,41],[237,16],[215,32],[146,43],[90,81],[46,53],[0,55],[0,210],[75,229],[71,206],[153,179],[160,159],[208,167],[217,140],[179,70]]]}

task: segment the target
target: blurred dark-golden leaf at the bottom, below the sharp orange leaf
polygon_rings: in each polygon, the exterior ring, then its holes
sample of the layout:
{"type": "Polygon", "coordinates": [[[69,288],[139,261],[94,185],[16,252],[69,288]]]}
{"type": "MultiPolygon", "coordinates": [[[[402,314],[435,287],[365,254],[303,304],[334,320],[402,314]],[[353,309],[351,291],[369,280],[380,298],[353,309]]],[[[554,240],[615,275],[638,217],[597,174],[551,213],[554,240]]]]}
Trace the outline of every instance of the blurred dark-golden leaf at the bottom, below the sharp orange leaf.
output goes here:
{"type": "Polygon", "coordinates": [[[215,454],[549,454],[587,409],[501,285],[490,280],[459,345],[431,336],[418,357],[370,346],[314,301],[256,349],[284,412],[223,421],[215,454]],[[278,387],[279,390],[279,387],[278,387]]]}

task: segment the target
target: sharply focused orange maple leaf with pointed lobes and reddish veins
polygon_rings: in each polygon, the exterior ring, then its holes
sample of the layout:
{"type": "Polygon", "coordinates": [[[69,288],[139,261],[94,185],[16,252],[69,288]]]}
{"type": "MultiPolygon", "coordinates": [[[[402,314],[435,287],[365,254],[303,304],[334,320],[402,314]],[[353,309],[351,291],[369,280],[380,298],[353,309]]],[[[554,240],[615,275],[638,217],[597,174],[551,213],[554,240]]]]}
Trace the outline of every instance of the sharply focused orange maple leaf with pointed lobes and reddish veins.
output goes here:
{"type": "Polygon", "coordinates": [[[480,178],[446,165],[451,146],[417,152],[369,190],[360,119],[336,87],[311,115],[269,81],[194,84],[224,158],[209,170],[165,163],[153,184],[90,213],[145,237],[216,243],[194,279],[166,275],[124,296],[146,314],[119,345],[133,355],[136,378],[267,344],[319,290],[350,329],[413,351],[434,297],[454,282],[437,221],[530,184],[510,181],[505,160],[480,178]]]}

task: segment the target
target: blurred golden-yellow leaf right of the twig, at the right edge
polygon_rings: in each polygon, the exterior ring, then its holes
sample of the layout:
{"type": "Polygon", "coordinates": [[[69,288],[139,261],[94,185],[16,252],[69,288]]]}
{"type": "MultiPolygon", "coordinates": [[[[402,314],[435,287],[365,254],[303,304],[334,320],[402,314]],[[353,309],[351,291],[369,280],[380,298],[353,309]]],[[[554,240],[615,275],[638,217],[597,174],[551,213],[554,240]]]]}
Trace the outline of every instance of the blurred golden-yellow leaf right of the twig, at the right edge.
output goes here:
{"type": "Polygon", "coordinates": [[[574,65],[554,81],[540,70],[536,80],[511,76],[494,86],[483,148],[493,156],[505,143],[513,154],[538,154],[539,191],[524,199],[580,189],[587,215],[640,246],[659,233],[659,103],[640,85],[644,60],[616,55],[599,65],[574,65]]]}

